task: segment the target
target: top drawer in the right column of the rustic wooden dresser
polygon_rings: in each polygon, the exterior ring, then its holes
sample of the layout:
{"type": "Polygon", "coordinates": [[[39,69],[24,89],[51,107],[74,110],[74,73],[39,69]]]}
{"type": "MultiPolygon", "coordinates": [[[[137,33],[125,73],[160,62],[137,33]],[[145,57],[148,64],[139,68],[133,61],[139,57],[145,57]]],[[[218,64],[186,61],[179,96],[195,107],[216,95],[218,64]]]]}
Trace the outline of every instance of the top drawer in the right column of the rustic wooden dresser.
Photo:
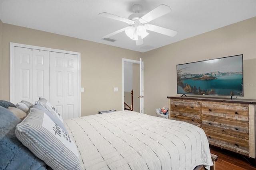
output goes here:
{"type": "Polygon", "coordinates": [[[227,119],[235,119],[236,121],[249,120],[248,106],[234,106],[225,104],[202,103],[202,114],[222,117],[227,119]]]}

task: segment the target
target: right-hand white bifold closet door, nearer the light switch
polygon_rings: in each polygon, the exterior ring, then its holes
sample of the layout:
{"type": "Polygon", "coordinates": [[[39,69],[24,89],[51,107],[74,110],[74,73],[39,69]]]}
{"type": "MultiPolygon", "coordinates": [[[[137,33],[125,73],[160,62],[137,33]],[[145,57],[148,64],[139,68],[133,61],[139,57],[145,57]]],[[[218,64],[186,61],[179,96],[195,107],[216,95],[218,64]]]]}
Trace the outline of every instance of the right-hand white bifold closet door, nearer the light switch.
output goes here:
{"type": "Polygon", "coordinates": [[[78,117],[78,55],[50,52],[50,102],[63,119],[78,117]]]}

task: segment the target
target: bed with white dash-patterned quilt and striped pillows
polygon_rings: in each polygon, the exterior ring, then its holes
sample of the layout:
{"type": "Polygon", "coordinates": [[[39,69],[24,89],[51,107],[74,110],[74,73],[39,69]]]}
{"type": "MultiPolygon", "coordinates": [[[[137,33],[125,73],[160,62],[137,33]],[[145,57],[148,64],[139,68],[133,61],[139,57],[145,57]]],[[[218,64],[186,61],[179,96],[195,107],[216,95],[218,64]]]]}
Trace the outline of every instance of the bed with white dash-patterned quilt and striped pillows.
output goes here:
{"type": "MultiPolygon", "coordinates": [[[[28,107],[28,115],[15,119],[9,131],[39,161],[36,169],[193,170],[204,165],[209,170],[213,165],[204,131],[186,122],[134,111],[63,120],[45,99],[28,107]]],[[[4,138],[0,136],[0,149],[4,138]]],[[[0,160],[0,169],[8,167],[2,164],[0,160]]]]}

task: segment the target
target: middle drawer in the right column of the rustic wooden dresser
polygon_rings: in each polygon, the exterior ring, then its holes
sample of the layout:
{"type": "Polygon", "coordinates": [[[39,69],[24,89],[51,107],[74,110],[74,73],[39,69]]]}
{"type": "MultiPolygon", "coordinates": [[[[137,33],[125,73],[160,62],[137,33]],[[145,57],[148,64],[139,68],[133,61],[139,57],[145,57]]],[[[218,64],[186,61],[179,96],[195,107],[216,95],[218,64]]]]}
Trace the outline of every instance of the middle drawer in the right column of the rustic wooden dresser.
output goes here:
{"type": "Polygon", "coordinates": [[[202,117],[202,128],[218,133],[224,133],[232,135],[234,137],[240,137],[243,139],[249,139],[249,123],[244,121],[233,121],[214,116],[202,117]]]}

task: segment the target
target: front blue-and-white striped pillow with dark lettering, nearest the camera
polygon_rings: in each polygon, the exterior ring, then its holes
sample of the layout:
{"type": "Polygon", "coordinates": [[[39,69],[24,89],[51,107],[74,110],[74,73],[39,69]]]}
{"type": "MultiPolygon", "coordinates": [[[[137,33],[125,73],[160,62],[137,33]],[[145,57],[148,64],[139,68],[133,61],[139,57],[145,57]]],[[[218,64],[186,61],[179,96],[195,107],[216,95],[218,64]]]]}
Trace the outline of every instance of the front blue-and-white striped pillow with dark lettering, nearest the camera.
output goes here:
{"type": "Polygon", "coordinates": [[[30,108],[28,116],[16,126],[15,135],[54,170],[81,169],[75,143],[43,111],[30,108]]]}

